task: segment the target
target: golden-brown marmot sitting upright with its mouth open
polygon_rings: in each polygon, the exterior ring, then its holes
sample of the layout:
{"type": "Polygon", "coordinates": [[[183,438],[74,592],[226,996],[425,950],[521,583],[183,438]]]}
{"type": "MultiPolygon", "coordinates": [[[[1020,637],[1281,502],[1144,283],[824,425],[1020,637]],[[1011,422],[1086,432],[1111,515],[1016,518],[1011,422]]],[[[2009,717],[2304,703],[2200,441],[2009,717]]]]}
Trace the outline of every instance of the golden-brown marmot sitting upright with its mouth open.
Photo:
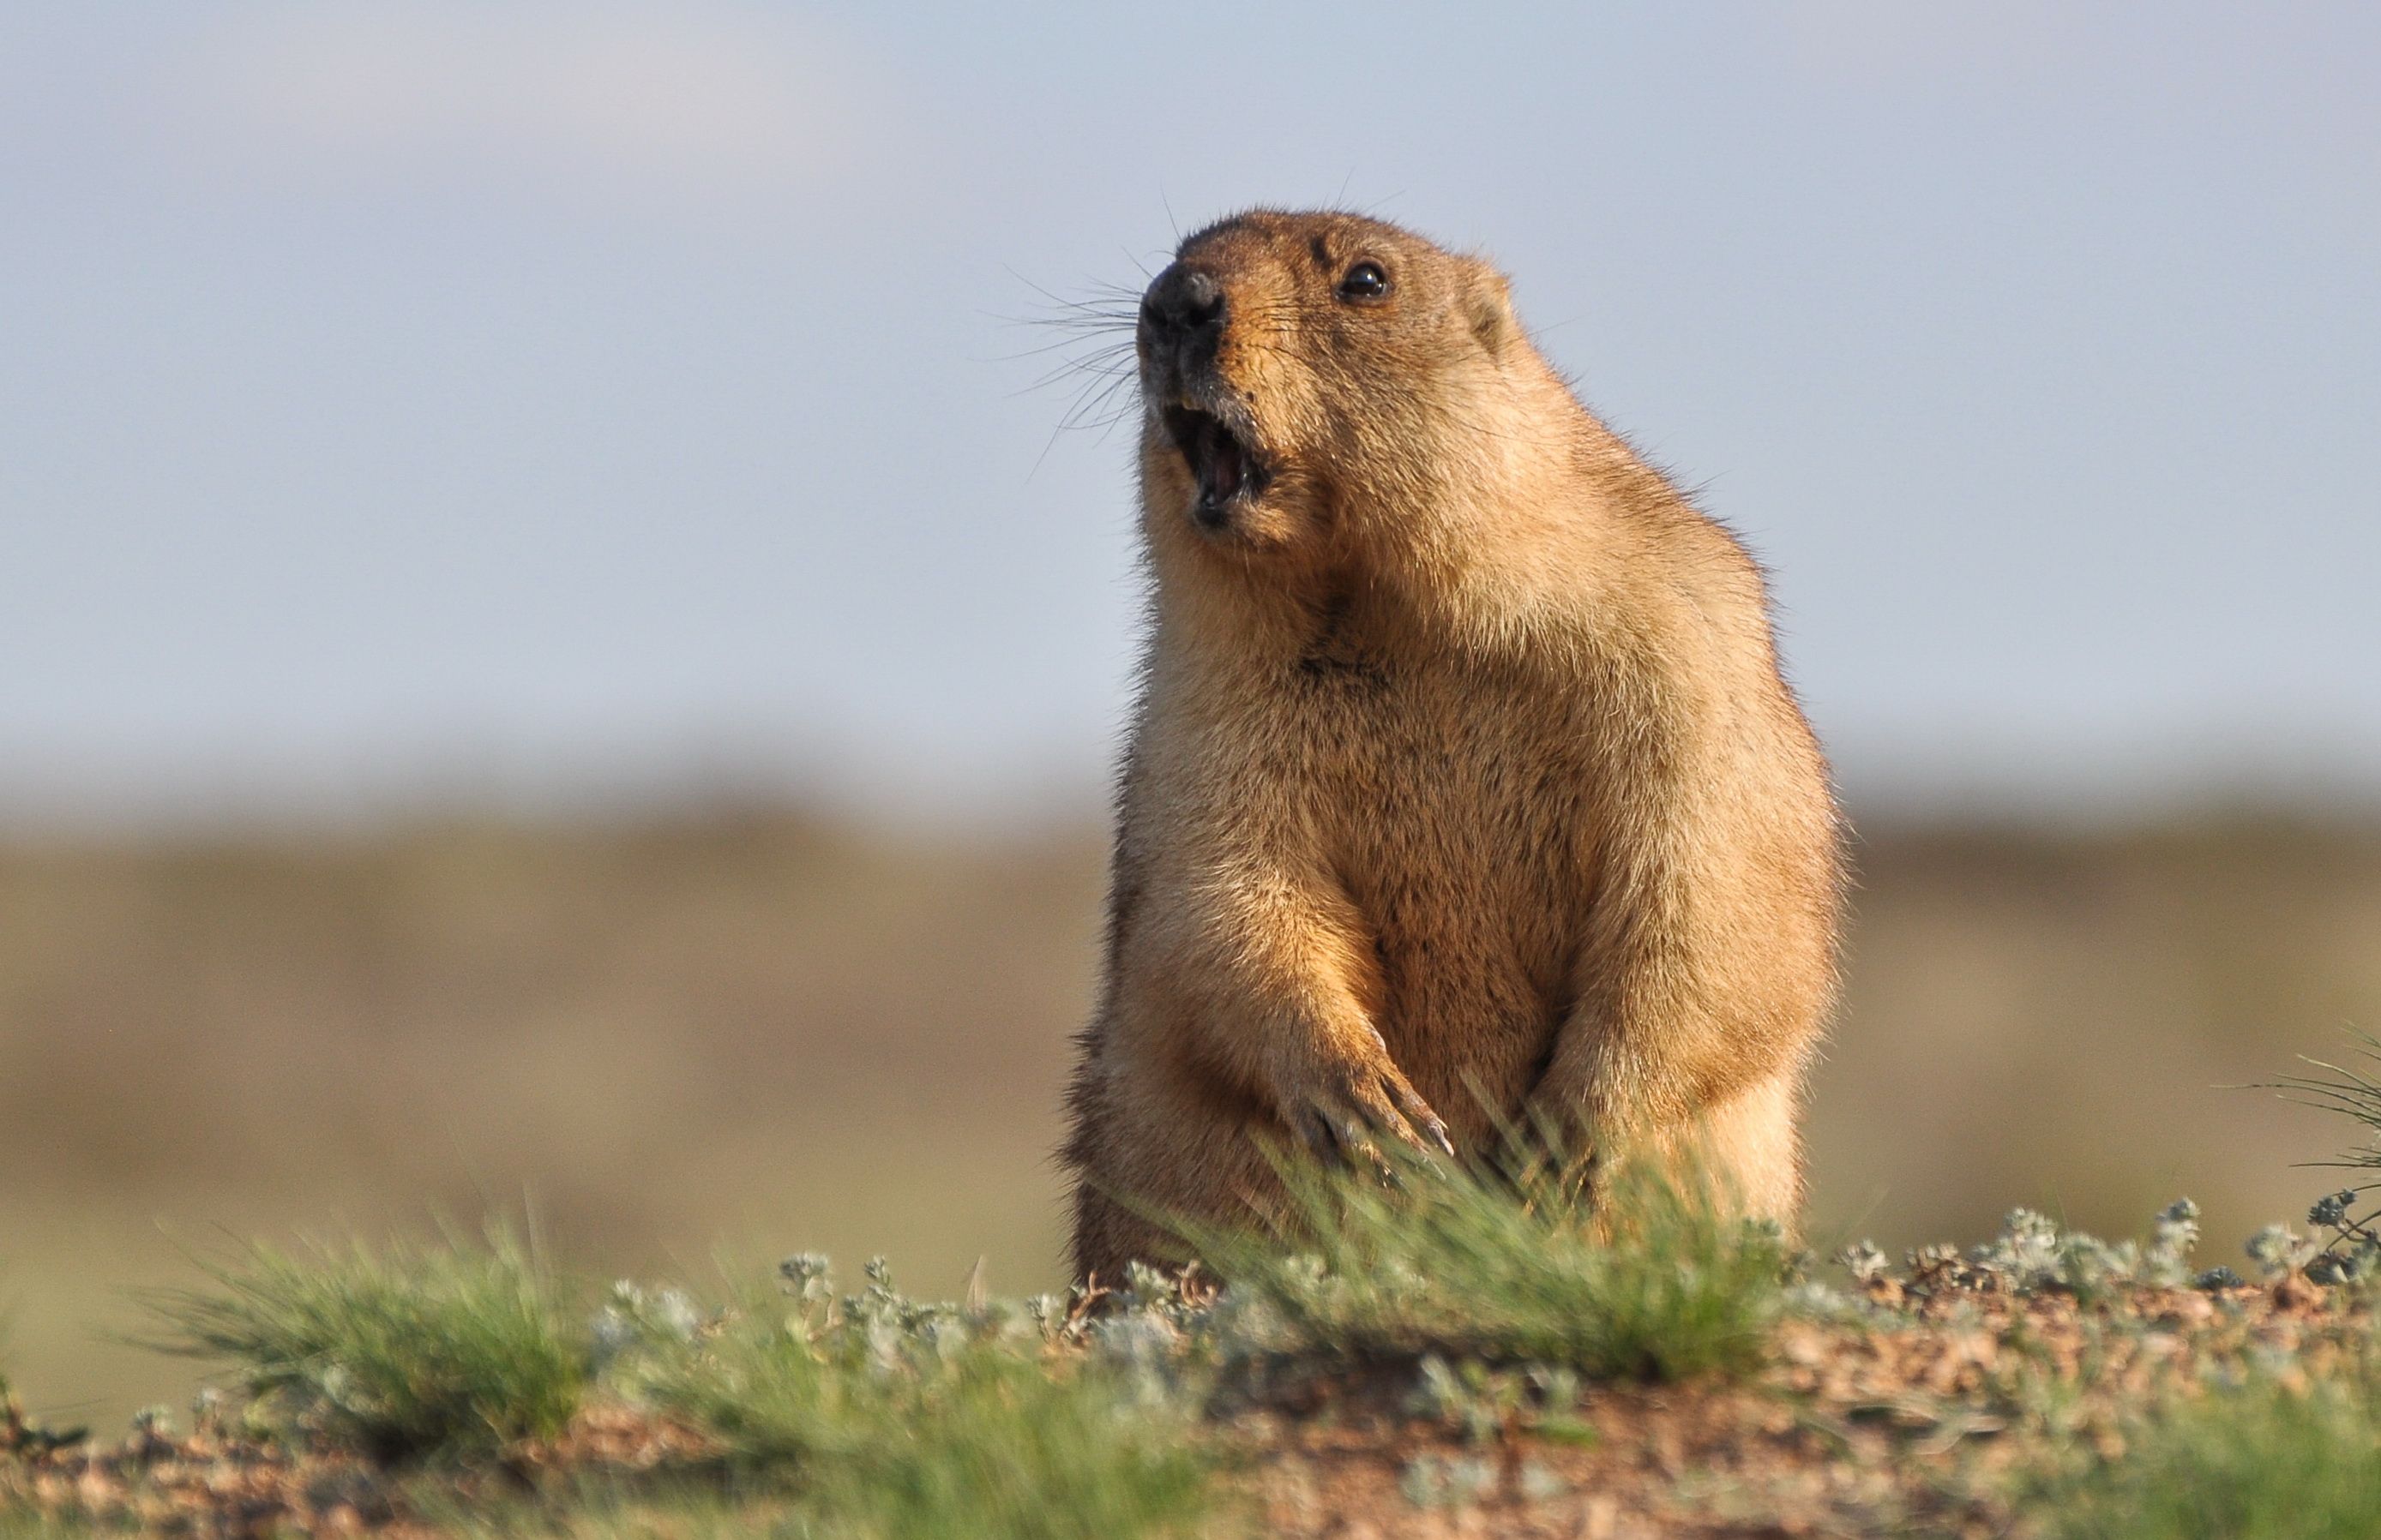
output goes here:
{"type": "Polygon", "coordinates": [[[1248,1221],[1267,1143],[1560,1119],[1793,1219],[1841,824],[1762,571],[1507,281],[1379,219],[1181,243],[1136,324],[1155,576],[1074,1266],[1248,1221]]]}

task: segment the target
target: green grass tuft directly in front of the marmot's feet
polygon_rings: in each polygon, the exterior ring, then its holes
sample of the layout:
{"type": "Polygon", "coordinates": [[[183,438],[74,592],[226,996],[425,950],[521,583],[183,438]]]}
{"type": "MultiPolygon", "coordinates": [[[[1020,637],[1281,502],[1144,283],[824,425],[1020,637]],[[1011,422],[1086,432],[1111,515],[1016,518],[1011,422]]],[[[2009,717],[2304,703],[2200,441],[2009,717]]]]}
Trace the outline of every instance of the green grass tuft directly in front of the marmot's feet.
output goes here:
{"type": "Polygon", "coordinates": [[[1519,1176],[1393,1154],[1369,1171],[1283,1166],[1283,1245],[1190,1228],[1193,1242],[1288,1331],[1350,1359],[1436,1354],[1545,1364],[1588,1378],[1738,1373],[1776,1316],[1783,1245],[1645,1169],[1593,1202],[1550,1159],[1519,1176]]]}

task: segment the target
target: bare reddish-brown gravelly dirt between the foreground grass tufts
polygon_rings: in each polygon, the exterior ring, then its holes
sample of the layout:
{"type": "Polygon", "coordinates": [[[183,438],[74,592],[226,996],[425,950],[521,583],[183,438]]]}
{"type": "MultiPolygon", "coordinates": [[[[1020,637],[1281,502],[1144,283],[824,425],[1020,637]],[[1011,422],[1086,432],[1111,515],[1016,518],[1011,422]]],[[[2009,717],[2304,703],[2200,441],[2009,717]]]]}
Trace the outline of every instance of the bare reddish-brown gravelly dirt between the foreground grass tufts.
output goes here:
{"type": "MultiPolygon", "coordinates": [[[[1417,1419],[1398,1376],[1319,1371],[1217,1423],[1236,1533],[1331,1540],[1631,1540],[1650,1535],[2026,1535],[2029,1473],[2114,1457],[2131,1419],[2248,1357],[2321,1376],[2374,1321],[2288,1276],[2219,1292],[1902,1297],[1864,1321],[1788,1319],[1745,1383],[1602,1385],[1557,1421],[1457,1433],[1417,1419]],[[2041,1411],[2057,1404],[2055,1416],[2041,1411]]],[[[0,1433],[7,1504],[152,1533],[443,1535],[495,1509],[588,1511],[586,1492],[676,1533],[724,1490],[714,1450],[619,1404],[467,1473],[286,1454],[205,1426],[43,1447],[0,1433]],[[643,1504],[643,1507],[640,1507],[643,1504]]],[[[767,1500],[755,1500],[767,1504],[767,1500]]]]}

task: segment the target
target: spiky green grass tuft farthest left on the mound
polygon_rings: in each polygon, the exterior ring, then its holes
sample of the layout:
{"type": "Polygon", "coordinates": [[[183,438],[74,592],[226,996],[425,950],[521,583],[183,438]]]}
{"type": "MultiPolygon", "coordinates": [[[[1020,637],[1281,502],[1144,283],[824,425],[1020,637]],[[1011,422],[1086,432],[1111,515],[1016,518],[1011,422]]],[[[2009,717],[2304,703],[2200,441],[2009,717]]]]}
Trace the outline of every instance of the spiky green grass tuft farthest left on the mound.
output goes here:
{"type": "Polygon", "coordinates": [[[171,1352],[236,1366],[307,1431],[379,1459],[560,1433],[588,1383],[569,1290],[512,1231],[486,1245],[252,1245],[148,1304],[171,1352]]]}

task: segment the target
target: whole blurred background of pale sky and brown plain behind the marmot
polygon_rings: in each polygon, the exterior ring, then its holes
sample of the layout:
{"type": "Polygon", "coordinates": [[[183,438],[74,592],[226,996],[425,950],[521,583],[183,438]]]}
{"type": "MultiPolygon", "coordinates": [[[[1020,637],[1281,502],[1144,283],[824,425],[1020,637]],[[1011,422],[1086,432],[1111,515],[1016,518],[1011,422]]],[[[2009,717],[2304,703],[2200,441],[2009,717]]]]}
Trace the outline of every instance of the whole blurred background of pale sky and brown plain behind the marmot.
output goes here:
{"type": "Polygon", "coordinates": [[[1136,607],[1043,324],[1486,250],[1776,576],[1860,824],[1812,1233],[2210,1259],[2381,1028],[2381,12],[0,12],[0,1366],[524,1204],[1060,1281],[1136,607]],[[1045,378],[1057,371],[1055,378],[1045,378]],[[1064,428],[1074,419],[1076,428],[1064,428]]]}

